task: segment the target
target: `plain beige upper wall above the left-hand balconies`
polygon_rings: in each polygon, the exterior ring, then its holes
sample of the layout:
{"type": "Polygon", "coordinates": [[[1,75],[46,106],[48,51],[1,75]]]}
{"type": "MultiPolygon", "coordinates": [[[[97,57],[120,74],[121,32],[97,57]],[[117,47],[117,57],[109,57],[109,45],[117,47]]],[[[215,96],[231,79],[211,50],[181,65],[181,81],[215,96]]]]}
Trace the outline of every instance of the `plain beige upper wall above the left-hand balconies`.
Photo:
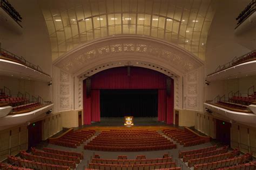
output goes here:
{"type": "Polygon", "coordinates": [[[10,0],[9,2],[23,17],[23,33],[16,34],[0,26],[2,48],[24,56],[26,60],[39,65],[45,73],[52,74],[50,39],[37,1],[10,0]]]}

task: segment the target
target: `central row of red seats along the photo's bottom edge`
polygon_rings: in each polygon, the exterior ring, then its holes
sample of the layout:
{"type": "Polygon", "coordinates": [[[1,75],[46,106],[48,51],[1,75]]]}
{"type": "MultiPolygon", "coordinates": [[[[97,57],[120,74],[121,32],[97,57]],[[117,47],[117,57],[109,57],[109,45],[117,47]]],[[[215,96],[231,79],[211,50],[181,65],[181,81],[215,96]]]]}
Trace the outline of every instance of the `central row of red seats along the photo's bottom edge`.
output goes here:
{"type": "Polygon", "coordinates": [[[176,162],[166,162],[160,164],[139,164],[139,165],[110,165],[110,164],[91,164],[89,168],[93,169],[138,169],[138,170],[149,170],[149,169],[160,169],[160,168],[171,168],[176,167],[176,162]]]}

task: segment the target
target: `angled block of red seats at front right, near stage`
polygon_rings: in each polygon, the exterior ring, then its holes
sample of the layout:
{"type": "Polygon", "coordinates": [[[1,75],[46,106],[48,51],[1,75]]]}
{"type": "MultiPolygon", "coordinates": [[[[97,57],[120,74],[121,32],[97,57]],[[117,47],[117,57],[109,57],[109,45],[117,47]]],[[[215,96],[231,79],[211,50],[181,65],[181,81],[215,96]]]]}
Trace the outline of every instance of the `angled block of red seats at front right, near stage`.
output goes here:
{"type": "Polygon", "coordinates": [[[163,133],[184,147],[205,143],[205,139],[201,139],[195,133],[188,130],[164,129],[163,133]]]}

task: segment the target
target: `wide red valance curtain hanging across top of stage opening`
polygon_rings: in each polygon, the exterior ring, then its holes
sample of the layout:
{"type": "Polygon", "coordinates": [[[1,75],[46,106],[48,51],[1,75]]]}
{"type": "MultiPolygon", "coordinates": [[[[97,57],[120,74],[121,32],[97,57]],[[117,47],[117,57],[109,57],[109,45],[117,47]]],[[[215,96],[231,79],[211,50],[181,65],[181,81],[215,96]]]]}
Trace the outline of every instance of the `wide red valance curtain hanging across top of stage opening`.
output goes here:
{"type": "Polygon", "coordinates": [[[91,78],[92,89],[165,89],[166,76],[151,69],[127,67],[104,70],[91,78]]]}

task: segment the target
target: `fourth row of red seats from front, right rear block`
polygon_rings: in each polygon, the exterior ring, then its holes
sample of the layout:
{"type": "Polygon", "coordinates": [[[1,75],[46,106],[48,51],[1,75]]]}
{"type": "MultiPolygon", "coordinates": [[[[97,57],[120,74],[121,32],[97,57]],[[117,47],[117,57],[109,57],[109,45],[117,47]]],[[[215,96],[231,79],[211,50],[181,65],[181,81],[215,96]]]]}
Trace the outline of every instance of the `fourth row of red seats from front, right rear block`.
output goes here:
{"type": "Polygon", "coordinates": [[[222,167],[234,166],[237,164],[244,163],[243,160],[244,160],[244,158],[242,158],[242,157],[235,157],[235,158],[226,159],[226,160],[220,160],[220,161],[209,162],[209,163],[204,163],[204,164],[197,164],[194,166],[194,170],[217,169],[217,168],[222,168],[222,167]]]}

